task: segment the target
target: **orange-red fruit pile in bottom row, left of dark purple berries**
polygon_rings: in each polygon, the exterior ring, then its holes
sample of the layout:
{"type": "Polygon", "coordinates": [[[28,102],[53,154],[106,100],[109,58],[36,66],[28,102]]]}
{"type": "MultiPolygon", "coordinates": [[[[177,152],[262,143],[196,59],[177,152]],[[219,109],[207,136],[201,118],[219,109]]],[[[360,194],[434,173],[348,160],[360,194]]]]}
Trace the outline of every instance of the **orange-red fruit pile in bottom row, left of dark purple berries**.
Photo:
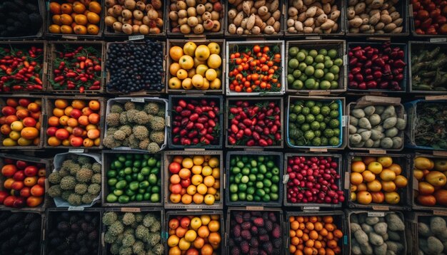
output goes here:
{"type": "MultiPolygon", "coordinates": [[[[177,216],[169,220],[169,254],[214,254],[221,246],[220,216],[177,216]]],[[[220,254],[220,253],[219,253],[220,254]]]]}

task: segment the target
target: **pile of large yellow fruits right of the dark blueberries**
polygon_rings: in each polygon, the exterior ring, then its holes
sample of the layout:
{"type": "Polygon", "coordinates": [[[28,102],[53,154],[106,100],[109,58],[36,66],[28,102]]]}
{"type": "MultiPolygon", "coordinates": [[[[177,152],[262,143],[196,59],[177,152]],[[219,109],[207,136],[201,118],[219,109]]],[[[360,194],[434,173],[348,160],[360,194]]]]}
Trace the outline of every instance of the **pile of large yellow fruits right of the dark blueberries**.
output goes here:
{"type": "Polygon", "coordinates": [[[169,88],[173,90],[219,90],[221,88],[221,46],[218,43],[196,45],[185,43],[183,48],[169,49],[169,88]]]}

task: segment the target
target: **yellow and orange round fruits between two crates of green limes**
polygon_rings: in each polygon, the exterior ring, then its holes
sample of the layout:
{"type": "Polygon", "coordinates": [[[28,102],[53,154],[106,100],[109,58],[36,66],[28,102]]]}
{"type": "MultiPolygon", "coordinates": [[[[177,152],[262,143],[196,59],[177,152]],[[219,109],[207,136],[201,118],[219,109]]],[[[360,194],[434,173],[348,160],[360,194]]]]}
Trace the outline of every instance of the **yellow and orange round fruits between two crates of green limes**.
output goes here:
{"type": "Polygon", "coordinates": [[[169,164],[169,201],[213,205],[221,199],[220,177],[219,158],[176,155],[169,164]]]}

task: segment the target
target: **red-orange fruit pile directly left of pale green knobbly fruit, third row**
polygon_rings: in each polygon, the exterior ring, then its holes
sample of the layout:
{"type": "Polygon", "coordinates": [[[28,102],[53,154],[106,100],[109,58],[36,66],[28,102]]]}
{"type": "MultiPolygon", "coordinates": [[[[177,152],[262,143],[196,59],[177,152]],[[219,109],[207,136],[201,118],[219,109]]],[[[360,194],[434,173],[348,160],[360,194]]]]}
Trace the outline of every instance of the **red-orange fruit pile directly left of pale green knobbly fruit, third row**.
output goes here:
{"type": "Polygon", "coordinates": [[[49,113],[46,140],[49,146],[94,147],[101,145],[98,100],[54,100],[49,113]]]}

